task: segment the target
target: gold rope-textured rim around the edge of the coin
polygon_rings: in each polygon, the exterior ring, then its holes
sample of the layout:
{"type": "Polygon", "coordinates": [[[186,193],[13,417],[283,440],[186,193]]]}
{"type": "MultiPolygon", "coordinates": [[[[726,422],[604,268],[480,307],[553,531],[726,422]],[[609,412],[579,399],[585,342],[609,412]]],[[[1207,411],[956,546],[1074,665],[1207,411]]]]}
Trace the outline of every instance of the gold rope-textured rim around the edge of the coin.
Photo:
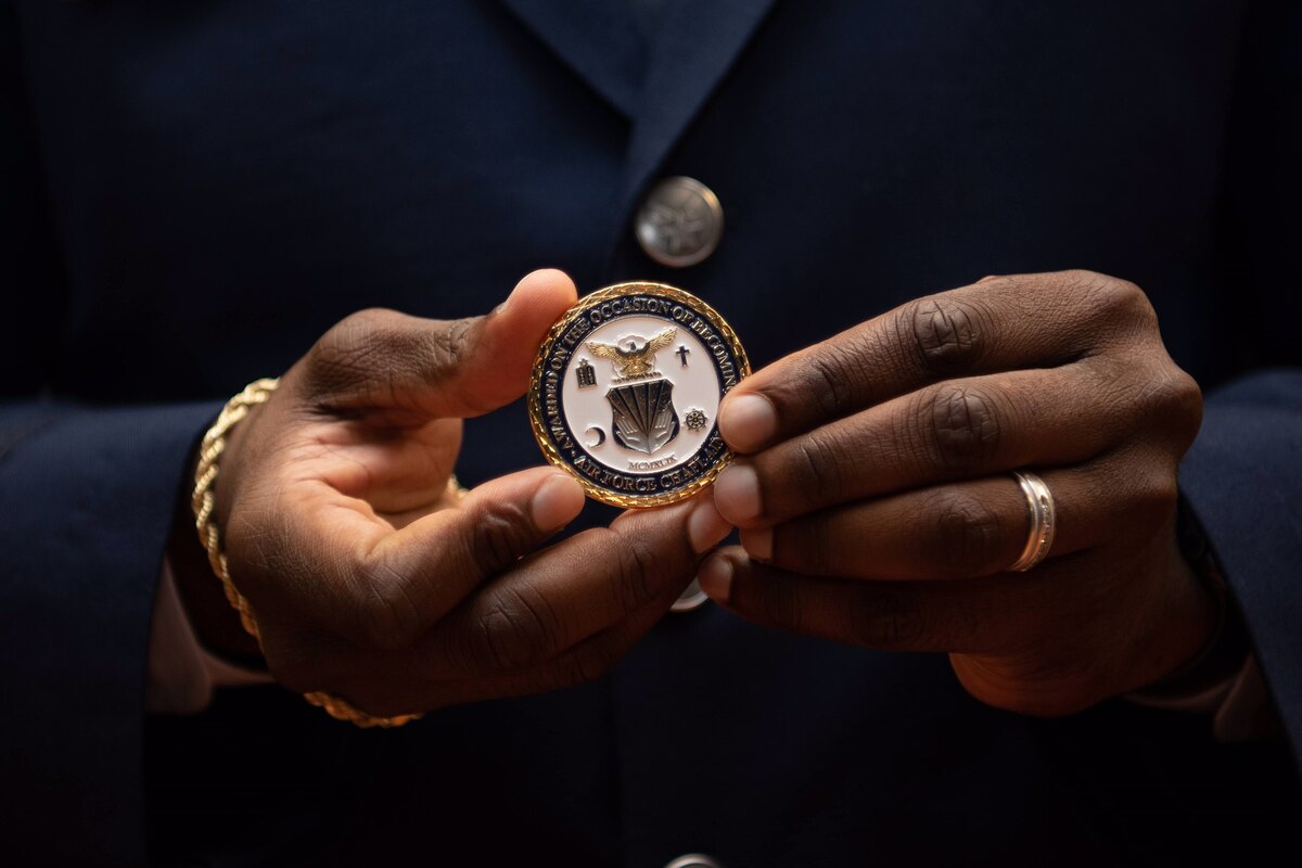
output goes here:
{"type": "MultiPolygon", "coordinates": [[[[698,316],[703,316],[707,323],[719,333],[719,336],[727,341],[728,349],[732,350],[733,357],[737,359],[737,367],[740,376],[737,381],[741,383],[750,376],[750,359],[746,355],[746,350],[741,345],[741,338],[737,337],[737,332],[733,331],[732,325],[719,315],[708,302],[693,295],[691,293],[678,289],[677,286],[671,286],[669,284],[655,284],[647,281],[630,281],[625,284],[613,284],[611,286],[604,286],[596,292],[589,293],[587,295],[578,299],[578,302],[565,311],[565,315],[556,320],[551,331],[547,333],[547,338],[543,340],[542,346],[538,347],[538,355],[534,358],[534,373],[529,381],[529,422],[534,429],[534,440],[538,441],[539,449],[543,450],[543,457],[548,462],[560,467],[570,476],[577,479],[583,487],[583,492],[592,500],[600,501],[603,504],[609,504],[611,506],[618,506],[621,509],[650,509],[654,506],[668,506],[669,504],[677,504],[680,501],[689,500],[697,496],[699,492],[710,488],[719,474],[723,472],[724,467],[732,463],[733,453],[732,449],[724,446],[723,454],[715,459],[706,472],[703,472],[697,479],[691,480],[682,488],[672,492],[665,492],[663,495],[650,495],[650,496],[631,496],[620,495],[618,492],[612,492],[608,488],[602,488],[591,479],[585,476],[578,471],[577,467],[572,466],[560,450],[552,442],[551,436],[547,431],[547,424],[543,422],[542,410],[542,390],[543,390],[543,364],[547,362],[547,357],[551,355],[552,347],[556,341],[565,332],[569,325],[591,310],[594,306],[607,302],[612,298],[621,298],[624,295],[659,295],[668,298],[669,301],[677,302],[691,308],[691,312],[698,316]]],[[[733,387],[737,388],[737,387],[733,387]]],[[[730,392],[732,389],[729,389],[730,392]]],[[[728,392],[724,392],[728,394],[728,392]]],[[[717,418],[715,424],[719,424],[717,418]]]]}

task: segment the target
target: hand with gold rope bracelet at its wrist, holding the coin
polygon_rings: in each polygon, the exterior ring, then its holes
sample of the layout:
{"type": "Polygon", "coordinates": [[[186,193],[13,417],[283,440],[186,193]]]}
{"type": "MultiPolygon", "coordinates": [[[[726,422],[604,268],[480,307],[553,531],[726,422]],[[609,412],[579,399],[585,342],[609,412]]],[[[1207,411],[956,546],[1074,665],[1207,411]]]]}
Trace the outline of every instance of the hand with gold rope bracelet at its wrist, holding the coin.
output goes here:
{"type": "Polygon", "coordinates": [[[525,392],[574,301],[542,271],[487,316],[354,314],[236,426],[215,515],[281,685],[396,716],[592,679],[728,534],[707,495],[540,548],[583,506],[548,467],[449,495],[461,419],[525,392]]]}

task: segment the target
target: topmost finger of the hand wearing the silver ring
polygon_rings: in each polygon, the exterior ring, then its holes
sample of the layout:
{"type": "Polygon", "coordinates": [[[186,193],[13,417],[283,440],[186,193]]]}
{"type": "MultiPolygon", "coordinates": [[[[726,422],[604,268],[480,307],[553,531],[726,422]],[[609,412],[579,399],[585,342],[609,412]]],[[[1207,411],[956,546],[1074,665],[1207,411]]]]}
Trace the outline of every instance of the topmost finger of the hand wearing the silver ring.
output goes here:
{"type": "Polygon", "coordinates": [[[1056,367],[1152,316],[1143,293],[1092,272],[1013,275],[919,298],[742,380],[719,431],[753,453],[954,376],[1056,367]]]}

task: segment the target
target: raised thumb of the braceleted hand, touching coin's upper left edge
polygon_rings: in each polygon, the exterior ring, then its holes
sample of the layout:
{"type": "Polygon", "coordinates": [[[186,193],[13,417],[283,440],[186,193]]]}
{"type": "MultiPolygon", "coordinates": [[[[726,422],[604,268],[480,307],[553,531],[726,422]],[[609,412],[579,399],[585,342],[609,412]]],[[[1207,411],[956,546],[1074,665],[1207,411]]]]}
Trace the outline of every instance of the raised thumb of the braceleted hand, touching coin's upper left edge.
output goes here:
{"type": "Polygon", "coordinates": [[[309,353],[307,388],[335,407],[480,415],[525,393],[547,331],[577,298],[574,281],[547,268],[527,275],[484,316],[359,311],[309,353]]]}

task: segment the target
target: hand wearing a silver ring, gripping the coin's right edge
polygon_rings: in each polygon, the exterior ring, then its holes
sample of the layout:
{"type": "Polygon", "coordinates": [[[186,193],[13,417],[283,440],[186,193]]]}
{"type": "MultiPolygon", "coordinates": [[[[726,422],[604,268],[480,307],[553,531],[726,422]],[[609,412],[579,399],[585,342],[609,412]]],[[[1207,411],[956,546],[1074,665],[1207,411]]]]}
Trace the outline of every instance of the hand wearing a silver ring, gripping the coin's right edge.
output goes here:
{"type": "Polygon", "coordinates": [[[715,502],[745,550],[702,588],[751,621],[948,652],[1010,711],[1072,713],[1193,657],[1216,612],[1180,554],[1176,474],[1202,394],[1133,284],[987,277],[789,355],[719,424],[741,457],[715,502]],[[1048,560],[1010,475],[1053,493],[1048,560]]]}

